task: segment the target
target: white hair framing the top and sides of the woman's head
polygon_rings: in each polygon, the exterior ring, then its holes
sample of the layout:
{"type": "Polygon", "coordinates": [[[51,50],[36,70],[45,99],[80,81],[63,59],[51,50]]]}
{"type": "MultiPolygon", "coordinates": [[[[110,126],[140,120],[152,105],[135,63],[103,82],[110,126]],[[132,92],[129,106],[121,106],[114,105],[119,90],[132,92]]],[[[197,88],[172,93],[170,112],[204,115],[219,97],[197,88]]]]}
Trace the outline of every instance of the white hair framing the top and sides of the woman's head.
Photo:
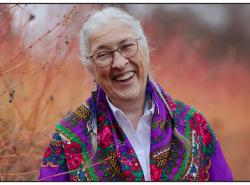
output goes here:
{"type": "Polygon", "coordinates": [[[102,10],[91,12],[89,14],[89,18],[84,23],[80,32],[81,59],[82,63],[90,72],[92,72],[91,61],[86,58],[89,55],[89,36],[94,29],[114,19],[126,23],[134,31],[136,37],[141,38],[140,41],[142,43],[142,47],[145,50],[145,53],[147,55],[146,57],[149,60],[148,42],[144,35],[144,31],[140,24],[140,21],[136,20],[127,12],[119,8],[106,7],[102,10]]]}

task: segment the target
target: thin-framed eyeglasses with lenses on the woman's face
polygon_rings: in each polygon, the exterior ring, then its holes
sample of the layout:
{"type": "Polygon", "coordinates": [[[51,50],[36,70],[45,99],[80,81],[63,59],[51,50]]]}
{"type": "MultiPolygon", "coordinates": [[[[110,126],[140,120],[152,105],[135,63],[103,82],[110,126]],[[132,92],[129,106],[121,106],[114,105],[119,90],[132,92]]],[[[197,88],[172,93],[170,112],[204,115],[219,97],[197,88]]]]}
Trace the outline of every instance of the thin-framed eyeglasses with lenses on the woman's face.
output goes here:
{"type": "Polygon", "coordinates": [[[94,55],[88,56],[87,59],[92,59],[92,61],[101,68],[108,67],[112,65],[114,60],[114,53],[118,51],[124,58],[131,58],[137,54],[138,51],[138,40],[128,39],[118,46],[115,50],[102,50],[95,53],[94,55]]]}

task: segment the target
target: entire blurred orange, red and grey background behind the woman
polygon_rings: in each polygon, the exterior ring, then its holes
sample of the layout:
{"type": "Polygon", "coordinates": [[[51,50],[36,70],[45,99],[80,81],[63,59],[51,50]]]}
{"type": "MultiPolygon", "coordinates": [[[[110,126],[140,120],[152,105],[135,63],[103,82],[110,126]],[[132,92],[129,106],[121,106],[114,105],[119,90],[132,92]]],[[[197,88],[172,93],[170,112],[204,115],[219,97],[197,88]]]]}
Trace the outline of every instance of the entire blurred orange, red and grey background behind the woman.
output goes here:
{"type": "Polygon", "coordinates": [[[55,124],[90,96],[79,30],[103,6],[141,20],[154,78],[206,116],[235,180],[250,180],[250,5],[0,4],[0,181],[36,181],[55,124]]]}

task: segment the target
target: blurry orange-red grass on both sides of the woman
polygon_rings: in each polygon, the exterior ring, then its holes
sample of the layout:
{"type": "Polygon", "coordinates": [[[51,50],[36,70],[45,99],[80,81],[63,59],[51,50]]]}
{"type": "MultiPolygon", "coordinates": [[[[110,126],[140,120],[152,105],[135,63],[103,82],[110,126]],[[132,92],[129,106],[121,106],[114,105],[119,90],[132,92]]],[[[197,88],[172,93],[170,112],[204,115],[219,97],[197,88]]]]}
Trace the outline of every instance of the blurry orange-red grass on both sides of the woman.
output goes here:
{"type": "MultiPolygon", "coordinates": [[[[11,24],[23,5],[0,5],[0,180],[33,181],[56,122],[91,92],[91,78],[80,64],[78,32],[85,11],[75,5],[47,32],[24,44],[29,20],[16,34],[11,24]],[[11,13],[10,13],[11,12],[11,13]],[[23,30],[23,31],[22,31],[23,30]]],[[[206,40],[187,42],[182,32],[165,41],[157,25],[145,22],[155,51],[152,74],[173,97],[203,112],[222,145],[235,180],[249,180],[249,69],[234,49],[208,58],[206,40]],[[152,26],[154,25],[154,26],[152,26]],[[161,41],[161,42],[160,42],[161,41]],[[247,165],[248,164],[248,165],[247,165]]]]}

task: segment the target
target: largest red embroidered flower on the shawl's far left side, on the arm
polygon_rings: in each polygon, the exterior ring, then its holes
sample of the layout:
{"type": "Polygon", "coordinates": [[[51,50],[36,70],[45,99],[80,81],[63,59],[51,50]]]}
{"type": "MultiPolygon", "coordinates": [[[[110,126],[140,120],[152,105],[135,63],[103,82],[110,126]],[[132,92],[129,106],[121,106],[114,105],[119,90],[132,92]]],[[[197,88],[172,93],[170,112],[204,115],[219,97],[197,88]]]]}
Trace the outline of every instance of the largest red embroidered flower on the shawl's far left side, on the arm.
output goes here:
{"type": "Polygon", "coordinates": [[[79,168],[82,163],[81,146],[78,143],[73,142],[65,145],[64,150],[68,162],[68,168],[70,170],[79,168]]]}

